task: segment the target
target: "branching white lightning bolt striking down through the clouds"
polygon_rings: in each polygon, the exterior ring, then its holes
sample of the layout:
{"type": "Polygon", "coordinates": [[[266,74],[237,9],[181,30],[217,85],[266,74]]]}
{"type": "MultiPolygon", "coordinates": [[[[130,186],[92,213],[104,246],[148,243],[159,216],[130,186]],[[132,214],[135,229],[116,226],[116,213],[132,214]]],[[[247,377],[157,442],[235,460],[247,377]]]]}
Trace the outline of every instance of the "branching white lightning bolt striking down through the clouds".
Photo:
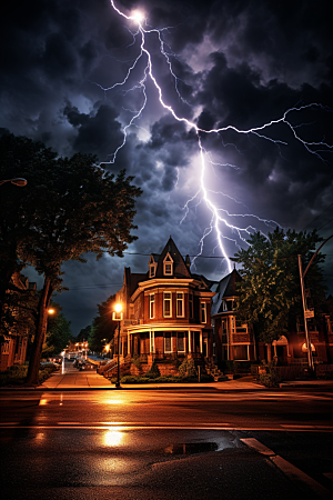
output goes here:
{"type": "MultiPolygon", "coordinates": [[[[269,227],[272,226],[280,226],[279,223],[276,223],[273,220],[265,220],[265,219],[261,219],[254,214],[250,214],[250,213],[235,213],[235,214],[231,214],[229,213],[225,209],[216,206],[216,203],[213,201],[213,197],[212,193],[215,194],[220,194],[222,197],[226,197],[232,199],[233,201],[239,202],[238,200],[235,200],[234,198],[229,197],[225,193],[222,192],[213,192],[211,190],[208,189],[206,187],[206,162],[213,164],[213,166],[221,166],[222,163],[219,162],[213,162],[210,152],[205,151],[205,149],[202,146],[202,138],[209,134],[219,134],[219,137],[221,137],[220,134],[222,132],[226,132],[229,130],[232,130],[234,132],[236,132],[238,134],[243,134],[246,136],[248,138],[250,136],[255,136],[259,137],[260,139],[263,139],[265,141],[272,142],[276,148],[279,148],[280,150],[280,154],[281,154],[281,147],[282,146],[287,146],[287,143],[285,141],[279,140],[279,139],[272,139],[271,137],[269,137],[266,134],[268,129],[270,129],[271,127],[273,127],[274,124],[279,124],[279,123],[283,123],[284,126],[286,126],[294,139],[296,141],[299,141],[303,148],[305,148],[305,150],[315,156],[317,159],[322,160],[325,162],[325,159],[322,157],[322,152],[325,151],[330,151],[332,150],[333,146],[327,144],[324,141],[320,141],[320,142],[310,142],[310,141],[305,141],[303,140],[299,134],[297,134],[297,129],[302,128],[303,126],[307,124],[307,123],[302,123],[302,124],[297,124],[294,126],[290,119],[290,116],[292,112],[301,112],[304,111],[306,109],[322,109],[324,111],[332,111],[319,103],[311,103],[311,104],[304,104],[304,106],[296,106],[293,108],[287,109],[280,118],[275,119],[275,120],[271,120],[268,123],[262,123],[259,127],[254,127],[248,130],[242,130],[242,129],[238,129],[236,127],[229,124],[226,127],[221,127],[221,128],[216,128],[216,129],[210,129],[210,130],[205,130],[202,129],[200,127],[198,127],[198,124],[194,121],[191,121],[184,117],[180,117],[176,114],[176,112],[174,111],[174,109],[167,104],[167,102],[163,99],[163,92],[162,89],[158,82],[158,79],[154,74],[153,71],[153,64],[152,64],[152,57],[151,53],[149,51],[149,49],[147,48],[147,42],[145,42],[145,34],[149,33],[157,33],[158,39],[159,39],[159,44],[160,44],[160,53],[163,56],[163,58],[167,61],[167,64],[169,67],[169,71],[170,74],[175,83],[175,91],[179,96],[179,98],[186,103],[186,101],[182,98],[180,91],[179,91],[179,82],[181,81],[174,73],[173,69],[172,69],[172,63],[171,63],[171,56],[175,57],[175,54],[172,52],[172,50],[170,49],[169,46],[167,46],[167,43],[163,40],[163,32],[168,31],[169,28],[162,28],[162,29],[154,29],[154,28],[150,28],[147,24],[147,20],[144,18],[144,14],[139,12],[139,11],[134,11],[132,12],[132,14],[128,16],[124,12],[122,12],[120,9],[117,8],[117,6],[114,4],[113,0],[110,0],[110,3],[113,8],[113,10],[122,18],[124,18],[127,21],[132,21],[135,24],[135,31],[131,32],[132,37],[133,37],[133,42],[131,43],[131,46],[134,44],[134,41],[137,39],[138,36],[141,37],[141,42],[140,42],[140,50],[139,50],[139,54],[137,56],[135,59],[132,60],[131,66],[128,69],[128,72],[125,74],[125,77],[123,78],[122,81],[114,83],[112,87],[108,87],[104,88],[101,84],[97,83],[103,91],[104,93],[109,90],[113,90],[117,88],[123,89],[124,86],[129,82],[129,79],[131,77],[131,74],[133,73],[134,69],[138,67],[139,61],[143,60],[145,58],[145,64],[142,71],[142,77],[139,81],[137,81],[137,83],[129,90],[122,90],[123,92],[132,92],[134,90],[140,90],[142,92],[142,104],[140,106],[139,110],[133,111],[133,116],[132,118],[129,120],[129,122],[123,127],[123,140],[122,143],[115,149],[115,151],[110,154],[110,160],[109,163],[114,163],[115,159],[117,159],[117,154],[118,152],[125,146],[127,143],[127,137],[128,137],[128,130],[130,127],[132,126],[137,126],[135,121],[141,117],[145,104],[147,104],[147,81],[148,79],[151,80],[151,82],[153,83],[154,88],[158,91],[158,96],[159,96],[159,101],[160,104],[162,106],[163,109],[165,109],[173,118],[174,120],[179,121],[179,122],[183,122],[185,123],[186,128],[190,129],[194,129],[195,133],[196,133],[196,138],[198,138],[198,147],[199,147],[199,152],[200,152],[200,161],[201,161],[201,177],[200,177],[200,189],[199,191],[190,199],[188,200],[188,202],[184,206],[184,210],[185,210],[185,214],[182,218],[182,220],[180,221],[181,223],[184,221],[184,219],[186,218],[189,210],[190,210],[190,203],[195,201],[196,206],[201,202],[204,202],[206,208],[209,209],[209,211],[211,212],[211,220],[210,220],[210,226],[209,228],[206,228],[203,232],[203,236],[200,240],[200,251],[198,253],[196,257],[202,254],[203,251],[203,247],[204,247],[204,240],[205,238],[211,234],[212,232],[215,233],[216,236],[216,241],[218,241],[218,247],[220,248],[220,251],[222,253],[222,257],[225,259],[225,262],[228,264],[228,269],[229,272],[232,271],[232,266],[231,266],[231,261],[226,254],[226,250],[225,250],[225,244],[224,244],[224,240],[230,240],[233,241],[233,243],[238,247],[241,248],[241,244],[248,244],[245,238],[246,236],[251,234],[251,232],[255,231],[255,228],[253,228],[252,226],[245,226],[245,227],[239,227],[235,226],[234,223],[231,223],[230,220],[232,220],[235,217],[241,217],[241,218],[254,218],[260,222],[265,223],[269,227]],[[200,200],[199,200],[200,198],[200,200]],[[226,236],[226,233],[223,233],[223,228],[229,232],[231,232],[232,234],[234,234],[234,238],[230,238],[226,236]]],[[[138,126],[137,126],[138,127],[138,126]]],[[[223,139],[222,139],[222,143],[223,143],[223,139]]],[[[224,144],[225,146],[225,144],[224,144]]],[[[234,144],[232,144],[234,146],[234,144]]],[[[105,162],[103,162],[105,163],[105,162]]],[[[238,168],[236,166],[233,164],[224,164],[223,167],[229,167],[229,168],[238,168]]],[[[194,263],[196,257],[192,260],[192,263],[194,263]]]]}

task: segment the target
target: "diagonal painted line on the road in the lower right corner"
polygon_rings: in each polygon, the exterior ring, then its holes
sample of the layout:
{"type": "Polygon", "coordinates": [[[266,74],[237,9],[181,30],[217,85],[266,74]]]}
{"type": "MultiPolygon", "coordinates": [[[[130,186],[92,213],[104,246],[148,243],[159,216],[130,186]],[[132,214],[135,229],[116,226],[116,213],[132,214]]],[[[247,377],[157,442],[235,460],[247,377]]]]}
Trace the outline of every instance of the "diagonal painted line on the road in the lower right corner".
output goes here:
{"type": "Polygon", "coordinates": [[[284,460],[279,454],[275,454],[274,451],[270,450],[270,448],[265,447],[256,439],[246,438],[241,439],[241,441],[244,442],[244,444],[246,444],[249,448],[252,448],[253,450],[258,451],[259,453],[268,456],[269,459],[291,480],[293,481],[296,480],[305,483],[312,490],[312,492],[317,496],[317,498],[321,498],[323,500],[332,500],[332,491],[324,488],[321,483],[312,479],[310,476],[307,476],[297,467],[284,460]]]}

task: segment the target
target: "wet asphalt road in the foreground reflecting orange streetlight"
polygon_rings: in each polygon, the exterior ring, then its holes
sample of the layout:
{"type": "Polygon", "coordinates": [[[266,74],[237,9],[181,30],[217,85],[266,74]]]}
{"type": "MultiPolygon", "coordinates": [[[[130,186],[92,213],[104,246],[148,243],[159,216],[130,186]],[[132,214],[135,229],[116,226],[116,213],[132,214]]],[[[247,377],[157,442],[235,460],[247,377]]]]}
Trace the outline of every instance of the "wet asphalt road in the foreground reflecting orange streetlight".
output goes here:
{"type": "Polygon", "coordinates": [[[1,499],[333,499],[322,391],[1,392],[1,499]]]}

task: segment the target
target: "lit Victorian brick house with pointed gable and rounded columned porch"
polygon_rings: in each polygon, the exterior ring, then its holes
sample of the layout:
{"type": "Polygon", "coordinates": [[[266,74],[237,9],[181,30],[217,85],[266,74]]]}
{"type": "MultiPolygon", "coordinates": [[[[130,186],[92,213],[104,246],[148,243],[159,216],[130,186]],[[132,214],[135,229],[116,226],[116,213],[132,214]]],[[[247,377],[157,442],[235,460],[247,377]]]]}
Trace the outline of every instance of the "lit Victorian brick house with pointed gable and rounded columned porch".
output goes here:
{"type": "MultiPolygon", "coordinates": [[[[190,258],[170,237],[160,254],[151,253],[148,271],[124,269],[123,287],[115,296],[122,304],[120,366],[138,374],[155,361],[161,374],[175,373],[175,361],[193,358],[196,364],[212,356],[211,299],[204,277],[190,272],[190,258]]],[[[118,329],[114,353],[118,352],[118,329]]]]}

